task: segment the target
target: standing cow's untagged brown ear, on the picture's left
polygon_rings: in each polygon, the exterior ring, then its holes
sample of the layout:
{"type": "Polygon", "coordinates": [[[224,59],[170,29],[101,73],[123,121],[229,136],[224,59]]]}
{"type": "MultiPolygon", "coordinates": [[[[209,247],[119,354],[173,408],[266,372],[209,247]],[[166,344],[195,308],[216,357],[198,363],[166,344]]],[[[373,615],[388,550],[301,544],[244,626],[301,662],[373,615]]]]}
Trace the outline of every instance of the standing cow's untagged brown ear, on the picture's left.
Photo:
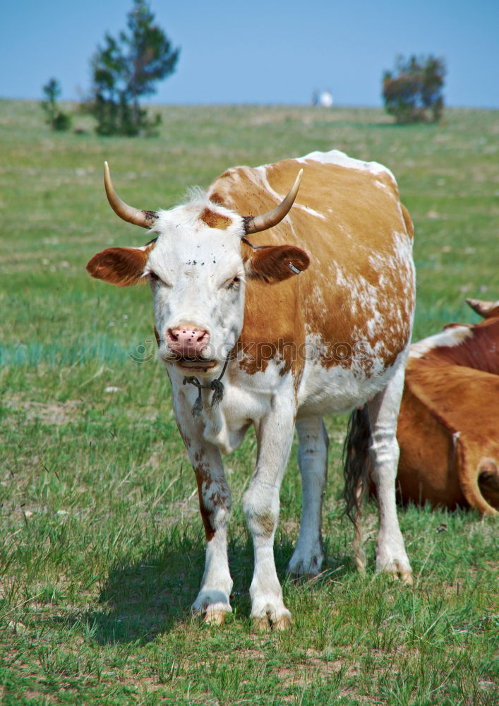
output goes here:
{"type": "Polygon", "coordinates": [[[87,272],[97,280],[111,285],[127,287],[144,277],[151,247],[107,248],[94,255],[87,265],[87,272]]]}

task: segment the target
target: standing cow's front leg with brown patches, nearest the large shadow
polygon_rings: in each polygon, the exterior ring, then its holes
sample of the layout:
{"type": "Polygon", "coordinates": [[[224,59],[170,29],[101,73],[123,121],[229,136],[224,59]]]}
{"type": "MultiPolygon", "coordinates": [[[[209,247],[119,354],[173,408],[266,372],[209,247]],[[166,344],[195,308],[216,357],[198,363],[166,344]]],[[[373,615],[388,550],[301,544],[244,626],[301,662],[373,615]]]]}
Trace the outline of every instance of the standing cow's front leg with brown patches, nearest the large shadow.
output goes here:
{"type": "Polygon", "coordinates": [[[177,420],[196,474],[199,508],[206,536],[205,573],[193,611],[203,616],[206,622],[220,625],[226,614],[232,612],[229,603],[232,578],[227,560],[231,493],[220,451],[204,440],[201,423],[193,419],[188,404],[180,401],[179,408],[177,420]]]}

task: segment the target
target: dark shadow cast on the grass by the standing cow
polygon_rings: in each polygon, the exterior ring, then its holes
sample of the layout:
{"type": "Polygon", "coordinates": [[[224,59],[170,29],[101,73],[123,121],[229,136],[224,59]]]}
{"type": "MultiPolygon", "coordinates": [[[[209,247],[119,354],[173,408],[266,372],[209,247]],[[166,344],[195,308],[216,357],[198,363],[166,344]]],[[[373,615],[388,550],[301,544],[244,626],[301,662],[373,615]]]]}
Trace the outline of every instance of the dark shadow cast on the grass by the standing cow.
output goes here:
{"type": "MultiPolygon", "coordinates": [[[[279,580],[289,581],[287,563],[293,544],[281,535],[275,544],[279,580]]],[[[324,580],[334,572],[339,579],[353,570],[349,560],[331,558],[325,566],[324,580]]],[[[116,563],[102,586],[102,610],[86,616],[93,639],[101,645],[124,642],[151,642],[192,618],[191,604],[198,593],[205,563],[205,542],[200,534],[181,534],[174,528],[161,545],[138,561],[116,563]]],[[[248,616],[249,586],[253,574],[253,546],[248,533],[241,531],[229,544],[229,566],[234,580],[231,604],[234,614],[248,616]]],[[[323,580],[319,578],[322,583],[323,580]]],[[[290,590],[308,592],[306,581],[291,582],[290,590]]]]}

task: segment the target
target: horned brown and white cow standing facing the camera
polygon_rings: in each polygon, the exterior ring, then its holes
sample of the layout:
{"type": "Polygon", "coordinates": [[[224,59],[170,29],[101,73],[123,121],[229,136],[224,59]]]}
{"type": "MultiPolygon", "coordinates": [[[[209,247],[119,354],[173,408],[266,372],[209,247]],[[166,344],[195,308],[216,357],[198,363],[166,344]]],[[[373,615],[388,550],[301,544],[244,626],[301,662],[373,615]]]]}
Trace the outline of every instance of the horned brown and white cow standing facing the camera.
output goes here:
{"type": "MultiPolygon", "coordinates": [[[[114,285],[150,282],[159,357],[196,473],[207,540],[194,611],[219,623],[231,611],[231,493],[221,453],[237,448],[253,424],[258,454],[243,501],[255,555],[251,616],[263,627],[289,625],[273,541],[294,428],[303,510],[289,570],[316,574],[324,556],[323,416],[357,407],[363,410],[357,412],[368,434],[363,449],[371,454],[380,498],[377,568],[410,582],[395,474],[414,267],[411,220],[391,172],[342,152],[313,152],[255,169],[229,169],[206,193],[158,212],[121,201],[107,164],[104,177],[112,208],[150,229],[152,240],[142,248],[104,250],[87,268],[114,285]],[[261,240],[253,237],[263,230],[261,240]]],[[[351,510],[366,458],[355,439],[350,446],[351,510]]]]}

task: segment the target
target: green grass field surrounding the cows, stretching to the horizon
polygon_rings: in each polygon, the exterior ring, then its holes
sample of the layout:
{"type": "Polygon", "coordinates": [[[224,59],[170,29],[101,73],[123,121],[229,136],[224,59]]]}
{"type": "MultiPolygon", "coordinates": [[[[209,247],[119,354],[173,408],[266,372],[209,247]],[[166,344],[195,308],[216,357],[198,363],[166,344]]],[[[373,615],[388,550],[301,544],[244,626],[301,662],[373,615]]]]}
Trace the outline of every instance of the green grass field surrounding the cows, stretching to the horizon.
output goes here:
{"type": "Polygon", "coordinates": [[[227,457],[234,614],[191,617],[204,564],[196,483],[155,361],[148,287],[90,280],[110,244],[140,245],[102,188],[168,208],[234,164],[337,148],[397,176],[416,227],[415,338],[476,321],[499,297],[499,112],[448,110],[397,127],[380,111],[164,107],[159,138],[56,134],[31,102],[0,101],[0,704],[418,706],[498,703],[497,523],[400,511],[414,587],[354,570],[339,500],[345,419],[327,419],[327,562],[289,581],[301,491],[294,451],[275,553],[289,633],[254,634],[241,496],[255,439],[227,457]],[[131,354],[140,362],[131,358],[131,354]]]}

